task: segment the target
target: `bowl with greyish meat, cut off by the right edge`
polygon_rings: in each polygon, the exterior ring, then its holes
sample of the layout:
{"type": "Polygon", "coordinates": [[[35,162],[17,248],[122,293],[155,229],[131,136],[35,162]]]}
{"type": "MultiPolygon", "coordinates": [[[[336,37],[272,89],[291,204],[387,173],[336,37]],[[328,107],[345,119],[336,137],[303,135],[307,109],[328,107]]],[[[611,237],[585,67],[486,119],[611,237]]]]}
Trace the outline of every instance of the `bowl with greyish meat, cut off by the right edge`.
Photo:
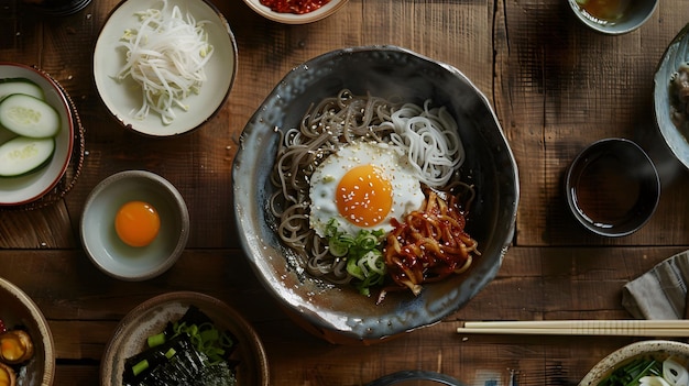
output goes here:
{"type": "Polygon", "coordinates": [[[672,155],[689,168],[689,24],[666,48],[653,84],[657,128],[672,155]]]}

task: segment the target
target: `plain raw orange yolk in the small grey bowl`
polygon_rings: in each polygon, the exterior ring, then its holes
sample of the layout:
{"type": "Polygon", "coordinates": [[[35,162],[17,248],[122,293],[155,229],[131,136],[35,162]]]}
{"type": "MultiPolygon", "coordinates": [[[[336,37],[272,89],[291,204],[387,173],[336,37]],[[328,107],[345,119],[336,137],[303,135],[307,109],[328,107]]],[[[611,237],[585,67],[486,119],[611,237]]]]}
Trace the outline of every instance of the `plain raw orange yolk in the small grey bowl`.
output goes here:
{"type": "Polygon", "coordinates": [[[161,230],[161,219],[150,203],[130,201],[124,203],[114,218],[114,230],[122,242],[130,246],[151,244],[161,230]]]}

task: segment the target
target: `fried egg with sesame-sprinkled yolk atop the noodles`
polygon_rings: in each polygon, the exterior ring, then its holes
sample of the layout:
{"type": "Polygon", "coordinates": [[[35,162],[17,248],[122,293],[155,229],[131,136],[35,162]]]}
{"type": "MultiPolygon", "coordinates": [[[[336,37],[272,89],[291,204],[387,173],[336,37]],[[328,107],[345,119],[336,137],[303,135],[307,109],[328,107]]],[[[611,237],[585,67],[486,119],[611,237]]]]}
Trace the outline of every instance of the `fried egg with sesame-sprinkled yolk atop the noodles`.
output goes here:
{"type": "Polygon", "coordinates": [[[321,238],[330,220],[356,236],[360,230],[393,230],[424,202],[420,183],[404,152],[393,145],[356,142],[328,156],[310,178],[309,224],[321,238]]]}

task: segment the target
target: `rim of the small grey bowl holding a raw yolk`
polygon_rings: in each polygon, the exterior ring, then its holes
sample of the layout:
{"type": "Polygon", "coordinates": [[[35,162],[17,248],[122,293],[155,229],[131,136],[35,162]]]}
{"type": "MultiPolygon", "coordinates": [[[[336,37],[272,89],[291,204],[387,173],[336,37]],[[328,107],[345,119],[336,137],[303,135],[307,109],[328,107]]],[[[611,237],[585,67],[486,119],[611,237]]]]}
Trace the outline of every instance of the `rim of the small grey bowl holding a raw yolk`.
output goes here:
{"type": "Polygon", "coordinates": [[[89,257],[91,263],[94,263],[94,265],[96,265],[96,267],[98,267],[98,269],[100,269],[105,274],[111,277],[121,279],[121,280],[125,280],[125,282],[147,280],[156,276],[160,276],[164,274],[165,272],[167,272],[169,268],[172,268],[173,265],[175,265],[175,263],[177,262],[177,260],[179,260],[179,256],[182,256],[182,254],[184,253],[188,238],[189,238],[189,211],[184,200],[184,197],[182,196],[179,190],[177,190],[177,188],[175,188],[175,186],[171,181],[165,179],[164,177],[153,172],[149,172],[149,170],[122,170],[122,172],[114,173],[106,177],[105,179],[102,179],[100,183],[98,183],[98,185],[96,185],[96,187],[87,196],[86,201],[84,203],[84,210],[81,212],[80,221],[79,221],[79,235],[81,239],[81,244],[84,246],[84,252],[86,252],[86,255],[89,257]],[[163,188],[163,190],[167,195],[174,198],[173,200],[174,207],[178,211],[181,221],[182,221],[182,228],[179,230],[179,238],[177,238],[177,243],[175,244],[175,247],[171,252],[169,256],[167,256],[160,265],[155,266],[153,269],[144,272],[144,273],[140,273],[136,275],[132,275],[132,276],[120,275],[118,273],[107,269],[107,267],[101,264],[100,258],[98,257],[99,254],[96,254],[92,252],[95,249],[91,249],[91,245],[88,242],[88,238],[86,234],[87,232],[89,232],[89,230],[86,227],[84,227],[85,220],[89,213],[90,207],[94,205],[94,201],[106,189],[108,189],[110,186],[116,184],[118,180],[121,180],[124,178],[127,179],[135,178],[140,180],[150,181],[150,183],[153,183],[156,187],[163,188]]]}

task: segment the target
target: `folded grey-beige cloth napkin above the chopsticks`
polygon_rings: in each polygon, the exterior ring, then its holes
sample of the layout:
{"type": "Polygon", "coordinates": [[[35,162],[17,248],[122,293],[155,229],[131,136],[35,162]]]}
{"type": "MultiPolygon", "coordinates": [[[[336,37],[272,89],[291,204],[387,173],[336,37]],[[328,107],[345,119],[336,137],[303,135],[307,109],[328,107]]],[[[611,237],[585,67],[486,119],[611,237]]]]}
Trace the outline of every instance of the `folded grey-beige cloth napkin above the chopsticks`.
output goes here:
{"type": "Polygon", "coordinates": [[[683,319],[688,284],[689,251],[685,251],[627,283],[622,306],[636,319],[683,319]]]}

